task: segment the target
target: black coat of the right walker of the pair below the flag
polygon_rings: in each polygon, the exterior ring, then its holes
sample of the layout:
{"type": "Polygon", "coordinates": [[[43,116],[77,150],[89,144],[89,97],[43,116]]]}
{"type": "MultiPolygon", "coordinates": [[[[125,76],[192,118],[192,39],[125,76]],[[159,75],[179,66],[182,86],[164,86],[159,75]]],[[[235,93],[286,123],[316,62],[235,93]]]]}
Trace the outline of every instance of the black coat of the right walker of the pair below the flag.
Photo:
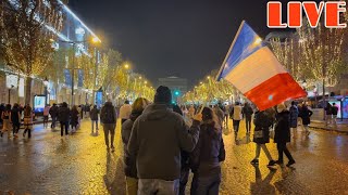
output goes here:
{"type": "Polygon", "coordinates": [[[274,128],[274,142],[290,142],[290,112],[284,110],[276,115],[276,125],[274,128]]]}

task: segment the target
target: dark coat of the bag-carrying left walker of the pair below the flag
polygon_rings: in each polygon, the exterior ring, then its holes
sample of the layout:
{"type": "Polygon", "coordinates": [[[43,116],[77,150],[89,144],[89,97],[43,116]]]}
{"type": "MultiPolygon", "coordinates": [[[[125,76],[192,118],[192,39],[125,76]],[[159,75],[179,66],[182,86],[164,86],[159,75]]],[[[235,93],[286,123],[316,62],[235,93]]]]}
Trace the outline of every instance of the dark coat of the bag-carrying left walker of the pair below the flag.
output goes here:
{"type": "Polygon", "coordinates": [[[254,132],[253,132],[253,142],[257,144],[270,143],[270,127],[273,125],[272,116],[265,110],[257,112],[254,114],[254,132]],[[261,134],[262,136],[257,136],[261,134]]]}

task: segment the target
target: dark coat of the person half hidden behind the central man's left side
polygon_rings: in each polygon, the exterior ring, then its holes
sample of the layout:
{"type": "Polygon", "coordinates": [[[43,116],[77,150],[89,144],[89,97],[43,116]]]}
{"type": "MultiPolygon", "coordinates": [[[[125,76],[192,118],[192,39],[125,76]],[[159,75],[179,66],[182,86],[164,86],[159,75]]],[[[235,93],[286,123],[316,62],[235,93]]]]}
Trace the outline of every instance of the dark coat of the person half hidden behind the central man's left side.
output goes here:
{"type": "Polygon", "coordinates": [[[126,177],[137,178],[136,156],[132,156],[127,151],[132,128],[134,121],[141,115],[142,112],[132,112],[128,120],[122,123],[121,134],[124,148],[124,173],[126,177]]]}

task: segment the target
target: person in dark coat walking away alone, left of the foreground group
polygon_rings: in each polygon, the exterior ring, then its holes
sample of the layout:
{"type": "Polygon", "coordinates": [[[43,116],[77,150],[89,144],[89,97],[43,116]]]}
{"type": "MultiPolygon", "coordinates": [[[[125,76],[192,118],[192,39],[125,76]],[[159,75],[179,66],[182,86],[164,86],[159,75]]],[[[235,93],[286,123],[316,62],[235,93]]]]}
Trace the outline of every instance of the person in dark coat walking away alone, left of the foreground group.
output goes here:
{"type": "Polygon", "coordinates": [[[114,152],[115,147],[113,145],[113,140],[115,138],[115,128],[117,121],[116,109],[112,105],[111,101],[105,102],[100,112],[100,121],[102,122],[102,127],[104,130],[104,140],[107,150],[109,151],[109,146],[111,146],[111,151],[114,152]],[[111,134],[111,143],[109,145],[109,133],[111,134]]]}

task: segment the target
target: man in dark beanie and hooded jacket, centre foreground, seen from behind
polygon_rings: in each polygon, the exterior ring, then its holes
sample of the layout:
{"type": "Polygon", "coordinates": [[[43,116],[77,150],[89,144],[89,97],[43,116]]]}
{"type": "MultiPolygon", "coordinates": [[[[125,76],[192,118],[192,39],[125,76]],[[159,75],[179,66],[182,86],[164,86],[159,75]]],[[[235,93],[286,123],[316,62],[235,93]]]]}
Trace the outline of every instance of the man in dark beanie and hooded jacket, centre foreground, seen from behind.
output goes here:
{"type": "Polygon", "coordinates": [[[178,194],[181,151],[191,152],[198,142],[201,114],[189,130],[171,103],[171,90],[160,86],[154,103],[134,122],[127,150],[137,157],[139,195],[178,194]]]}

